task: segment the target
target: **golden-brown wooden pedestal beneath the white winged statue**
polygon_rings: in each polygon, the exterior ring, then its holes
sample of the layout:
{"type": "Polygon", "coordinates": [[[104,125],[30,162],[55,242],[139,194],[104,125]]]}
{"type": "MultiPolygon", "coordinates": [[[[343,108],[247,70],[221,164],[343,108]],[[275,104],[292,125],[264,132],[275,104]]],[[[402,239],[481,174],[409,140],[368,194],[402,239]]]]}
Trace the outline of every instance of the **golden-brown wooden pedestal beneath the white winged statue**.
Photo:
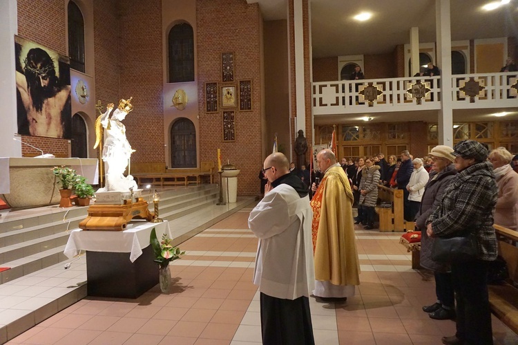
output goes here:
{"type": "Polygon", "coordinates": [[[140,197],[142,189],[131,192],[98,192],[95,205],[88,207],[88,216],[79,223],[82,230],[122,231],[133,218],[153,219],[148,203],[140,197]],[[139,196],[135,197],[135,194],[139,196]],[[128,198],[124,199],[126,196],[128,198]]]}

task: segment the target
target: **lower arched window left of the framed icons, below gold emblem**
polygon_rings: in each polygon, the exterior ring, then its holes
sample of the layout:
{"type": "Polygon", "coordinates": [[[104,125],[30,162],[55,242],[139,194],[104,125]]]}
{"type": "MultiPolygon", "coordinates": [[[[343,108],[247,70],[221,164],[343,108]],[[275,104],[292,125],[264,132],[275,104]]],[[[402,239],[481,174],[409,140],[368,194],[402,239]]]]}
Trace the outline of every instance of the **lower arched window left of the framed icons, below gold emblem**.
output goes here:
{"type": "Polygon", "coordinates": [[[179,119],[171,126],[171,166],[196,167],[196,129],[189,119],[179,119]]]}

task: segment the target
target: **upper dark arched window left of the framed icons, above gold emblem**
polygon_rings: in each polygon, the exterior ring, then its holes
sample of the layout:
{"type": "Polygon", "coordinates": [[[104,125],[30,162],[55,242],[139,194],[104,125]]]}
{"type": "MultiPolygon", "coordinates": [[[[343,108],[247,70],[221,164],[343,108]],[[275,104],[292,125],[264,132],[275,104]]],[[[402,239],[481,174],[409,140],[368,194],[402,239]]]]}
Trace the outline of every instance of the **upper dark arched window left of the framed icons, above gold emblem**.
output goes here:
{"type": "Polygon", "coordinates": [[[194,34],[189,24],[171,28],[169,43],[169,82],[194,82],[194,34]]]}

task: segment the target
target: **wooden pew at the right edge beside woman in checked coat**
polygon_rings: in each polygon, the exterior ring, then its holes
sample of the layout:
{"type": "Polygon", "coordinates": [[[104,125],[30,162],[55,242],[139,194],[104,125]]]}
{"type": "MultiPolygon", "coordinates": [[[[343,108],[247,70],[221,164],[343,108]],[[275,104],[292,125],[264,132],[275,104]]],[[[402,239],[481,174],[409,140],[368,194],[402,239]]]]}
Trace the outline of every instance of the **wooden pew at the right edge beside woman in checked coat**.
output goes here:
{"type": "Polygon", "coordinates": [[[498,238],[498,253],[507,263],[509,280],[501,285],[489,285],[489,304],[506,326],[518,333],[518,232],[494,225],[498,238]]]}

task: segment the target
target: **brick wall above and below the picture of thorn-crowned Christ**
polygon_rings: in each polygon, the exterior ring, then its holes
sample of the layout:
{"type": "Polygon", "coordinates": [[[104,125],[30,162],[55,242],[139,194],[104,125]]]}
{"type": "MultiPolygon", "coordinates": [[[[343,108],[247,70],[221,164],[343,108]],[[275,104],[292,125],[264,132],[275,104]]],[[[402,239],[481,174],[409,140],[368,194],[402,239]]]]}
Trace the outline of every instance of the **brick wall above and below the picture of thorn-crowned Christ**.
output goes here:
{"type": "MultiPolygon", "coordinates": [[[[66,55],[66,29],[63,0],[18,0],[18,35],[41,44],[61,55],[66,55]]],[[[70,157],[68,140],[22,136],[21,140],[38,147],[45,153],[70,157]]],[[[36,151],[27,145],[21,146],[21,155],[35,156],[36,151]]]]}

